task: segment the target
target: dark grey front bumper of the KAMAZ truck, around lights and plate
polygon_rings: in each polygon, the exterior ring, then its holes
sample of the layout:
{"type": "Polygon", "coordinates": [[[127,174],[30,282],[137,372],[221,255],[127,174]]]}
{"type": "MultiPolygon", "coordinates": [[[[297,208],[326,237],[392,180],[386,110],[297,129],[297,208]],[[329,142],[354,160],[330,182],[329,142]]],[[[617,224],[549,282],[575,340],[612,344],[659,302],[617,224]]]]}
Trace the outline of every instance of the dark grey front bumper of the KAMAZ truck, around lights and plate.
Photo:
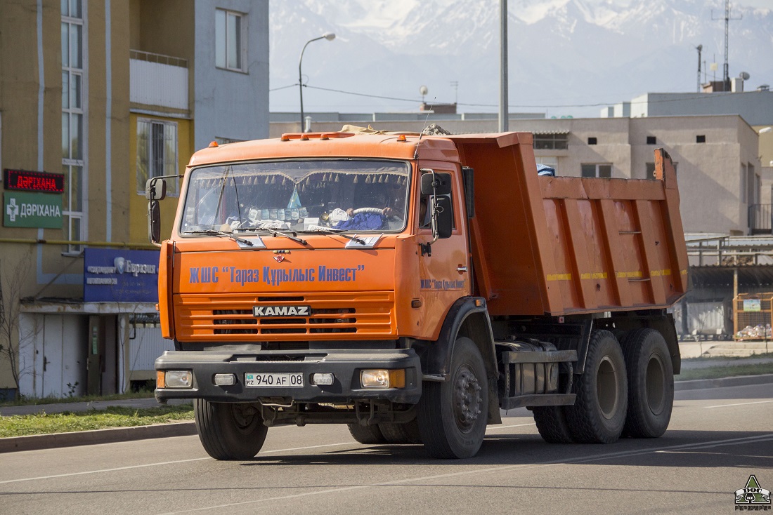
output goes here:
{"type": "Polygon", "coordinates": [[[421,398],[421,361],[413,349],[335,349],[325,351],[166,351],[155,361],[156,370],[190,370],[192,388],[156,388],[159,402],[171,398],[203,398],[213,402],[284,403],[386,400],[416,404],[421,398]],[[363,369],[404,369],[404,388],[362,388],[363,369]],[[302,387],[247,387],[244,374],[302,373],[302,387]],[[329,386],[312,385],[315,372],[334,374],[329,386]],[[215,374],[234,374],[236,384],[218,386],[215,374]]]}

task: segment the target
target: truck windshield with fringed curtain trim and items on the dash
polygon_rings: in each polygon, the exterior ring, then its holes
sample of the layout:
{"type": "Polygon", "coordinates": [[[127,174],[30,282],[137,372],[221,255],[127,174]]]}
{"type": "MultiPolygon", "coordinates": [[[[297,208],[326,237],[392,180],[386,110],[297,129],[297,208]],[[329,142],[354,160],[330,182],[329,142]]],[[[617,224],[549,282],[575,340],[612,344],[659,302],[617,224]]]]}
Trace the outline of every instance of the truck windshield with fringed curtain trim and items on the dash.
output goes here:
{"type": "Polygon", "coordinates": [[[261,161],[195,168],[180,231],[400,231],[409,178],[409,164],[400,161],[261,161]]]}

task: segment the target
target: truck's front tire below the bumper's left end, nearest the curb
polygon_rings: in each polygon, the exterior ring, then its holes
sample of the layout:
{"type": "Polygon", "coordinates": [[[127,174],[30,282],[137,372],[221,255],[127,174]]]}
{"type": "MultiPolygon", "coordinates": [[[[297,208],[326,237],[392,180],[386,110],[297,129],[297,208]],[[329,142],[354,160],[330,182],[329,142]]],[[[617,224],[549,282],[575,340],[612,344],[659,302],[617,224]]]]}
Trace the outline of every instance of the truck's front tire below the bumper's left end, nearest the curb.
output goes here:
{"type": "Polygon", "coordinates": [[[199,440],[214,459],[254,458],[266,440],[268,428],[255,405],[197,398],[193,415],[199,440]]]}

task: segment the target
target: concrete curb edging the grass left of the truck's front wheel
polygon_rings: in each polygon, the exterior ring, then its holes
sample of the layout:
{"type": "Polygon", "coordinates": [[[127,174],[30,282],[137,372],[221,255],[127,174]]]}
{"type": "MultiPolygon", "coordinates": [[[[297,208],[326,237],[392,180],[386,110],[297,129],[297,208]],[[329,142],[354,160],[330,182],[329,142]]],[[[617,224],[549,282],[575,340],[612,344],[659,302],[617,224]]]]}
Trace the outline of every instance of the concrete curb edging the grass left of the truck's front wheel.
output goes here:
{"type": "Polygon", "coordinates": [[[97,443],[131,442],[132,440],[195,434],[196,424],[194,422],[174,422],[128,428],[96,429],[94,431],[60,432],[50,435],[11,436],[0,438],[0,453],[92,446],[97,443]]]}

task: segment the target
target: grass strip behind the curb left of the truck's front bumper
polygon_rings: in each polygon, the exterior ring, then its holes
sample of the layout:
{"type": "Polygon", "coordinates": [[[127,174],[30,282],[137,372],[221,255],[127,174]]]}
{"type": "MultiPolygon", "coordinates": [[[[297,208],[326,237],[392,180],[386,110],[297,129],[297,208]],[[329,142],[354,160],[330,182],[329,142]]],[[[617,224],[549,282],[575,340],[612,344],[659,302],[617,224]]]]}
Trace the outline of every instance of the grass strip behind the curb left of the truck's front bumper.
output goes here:
{"type": "Polygon", "coordinates": [[[0,417],[0,438],[46,435],[55,432],[90,431],[193,420],[193,406],[165,405],[158,408],[110,406],[87,412],[38,413],[0,417]]]}

